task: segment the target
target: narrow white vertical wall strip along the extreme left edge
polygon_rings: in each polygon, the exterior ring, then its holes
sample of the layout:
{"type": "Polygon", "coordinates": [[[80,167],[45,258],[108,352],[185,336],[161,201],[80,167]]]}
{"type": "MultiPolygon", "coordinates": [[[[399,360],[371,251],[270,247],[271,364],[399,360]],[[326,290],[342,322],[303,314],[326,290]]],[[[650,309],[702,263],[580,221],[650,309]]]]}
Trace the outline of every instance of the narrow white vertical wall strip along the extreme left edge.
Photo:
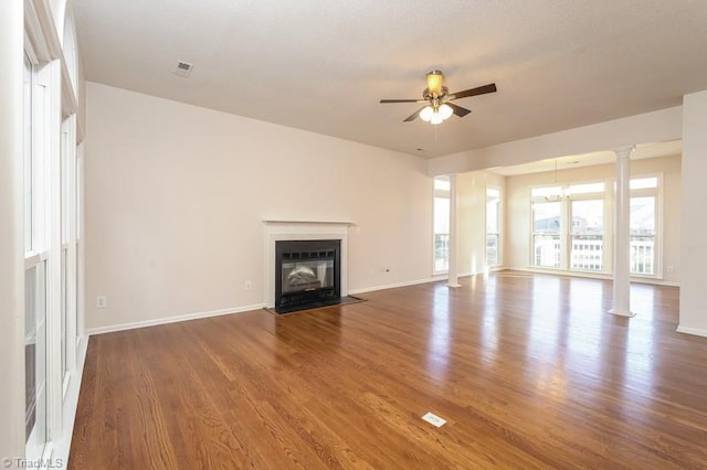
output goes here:
{"type": "Polygon", "coordinates": [[[23,7],[0,2],[0,458],[13,462],[24,456],[23,7]]]}

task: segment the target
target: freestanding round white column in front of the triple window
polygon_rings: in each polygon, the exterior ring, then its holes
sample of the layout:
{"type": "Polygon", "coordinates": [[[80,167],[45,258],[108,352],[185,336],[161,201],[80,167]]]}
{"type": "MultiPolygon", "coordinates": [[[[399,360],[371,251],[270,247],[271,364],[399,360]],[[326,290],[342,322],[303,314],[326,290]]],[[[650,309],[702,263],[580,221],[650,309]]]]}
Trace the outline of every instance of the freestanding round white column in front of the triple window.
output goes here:
{"type": "Polygon", "coordinates": [[[634,147],[614,149],[616,153],[616,197],[614,202],[614,306],[609,313],[633,317],[631,312],[631,188],[629,163],[634,147]]]}

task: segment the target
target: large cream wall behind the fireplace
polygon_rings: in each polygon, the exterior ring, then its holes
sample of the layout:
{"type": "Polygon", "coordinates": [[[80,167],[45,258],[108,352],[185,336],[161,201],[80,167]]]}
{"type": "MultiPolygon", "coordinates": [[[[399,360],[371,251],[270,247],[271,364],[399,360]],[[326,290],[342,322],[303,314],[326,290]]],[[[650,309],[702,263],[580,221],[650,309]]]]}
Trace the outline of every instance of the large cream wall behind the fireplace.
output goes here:
{"type": "Polygon", "coordinates": [[[350,291],[431,276],[420,158],[94,83],[87,121],[88,329],[261,306],[263,220],[354,222],[350,291]]]}

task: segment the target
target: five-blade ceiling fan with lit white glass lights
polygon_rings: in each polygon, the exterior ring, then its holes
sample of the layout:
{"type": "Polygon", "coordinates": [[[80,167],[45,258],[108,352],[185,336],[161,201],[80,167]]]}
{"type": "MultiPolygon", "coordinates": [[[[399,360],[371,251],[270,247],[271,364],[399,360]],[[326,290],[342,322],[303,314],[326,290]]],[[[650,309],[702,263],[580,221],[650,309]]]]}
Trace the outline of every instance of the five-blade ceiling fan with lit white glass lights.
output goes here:
{"type": "Polygon", "coordinates": [[[422,92],[422,99],[381,99],[380,103],[424,103],[425,106],[423,108],[408,116],[403,119],[403,122],[413,121],[420,116],[420,119],[437,125],[453,114],[458,117],[464,117],[472,113],[466,108],[451,103],[452,100],[496,92],[496,84],[492,83],[463,92],[450,93],[447,87],[444,86],[444,74],[441,71],[429,72],[426,78],[428,87],[422,92]]]}

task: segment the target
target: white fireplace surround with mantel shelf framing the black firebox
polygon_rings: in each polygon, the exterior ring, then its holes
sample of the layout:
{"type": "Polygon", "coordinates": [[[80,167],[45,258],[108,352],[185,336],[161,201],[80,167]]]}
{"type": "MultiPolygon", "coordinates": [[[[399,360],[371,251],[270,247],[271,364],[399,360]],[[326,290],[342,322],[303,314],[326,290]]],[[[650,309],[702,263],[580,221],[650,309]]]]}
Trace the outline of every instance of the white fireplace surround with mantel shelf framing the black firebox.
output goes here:
{"type": "Polygon", "coordinates": [[[340,293],[348,296],[348,237],[352,222],[331,221],[263,221],[265,233],[265,307],[275,307],[275,243],[295,239],[341,241],[340,293]]]}

